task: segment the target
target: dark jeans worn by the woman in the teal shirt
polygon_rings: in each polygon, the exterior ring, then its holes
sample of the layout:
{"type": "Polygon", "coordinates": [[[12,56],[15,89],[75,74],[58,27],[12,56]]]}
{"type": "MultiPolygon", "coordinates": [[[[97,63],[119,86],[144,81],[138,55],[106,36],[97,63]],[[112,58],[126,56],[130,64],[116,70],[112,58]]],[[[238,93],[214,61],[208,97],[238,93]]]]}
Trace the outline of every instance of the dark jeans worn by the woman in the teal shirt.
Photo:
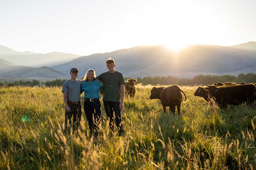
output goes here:
{"type": "Polygon", "coordinates": [[[90,133],[92,135],[94,134],[94,137],[98,135],[98,131],[99,131],[100,114],[101,114],[100,107],[101,105],[99,100],[96,100],[96,101],[84,100],[84,112],[88,121],[90,133]]]}

